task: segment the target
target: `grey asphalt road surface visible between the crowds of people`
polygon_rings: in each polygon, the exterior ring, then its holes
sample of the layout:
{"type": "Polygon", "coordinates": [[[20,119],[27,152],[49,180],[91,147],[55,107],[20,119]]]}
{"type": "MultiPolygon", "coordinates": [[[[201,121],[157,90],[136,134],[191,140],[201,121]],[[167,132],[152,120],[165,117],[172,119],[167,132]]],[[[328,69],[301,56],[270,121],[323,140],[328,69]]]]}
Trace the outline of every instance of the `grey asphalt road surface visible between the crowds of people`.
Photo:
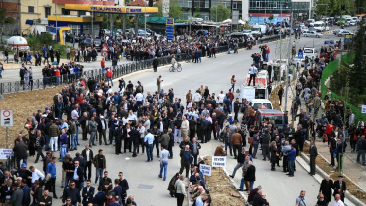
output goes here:
{"type": "MultiPolygon", "coordinates": [[[[331,34],[331,36],[334,36],[331,34]]],[[[316,49],[320,49],[323,45],[324,39],[315,39],[316,49]]],[[[283,41],[282,44],[288,44],[288,40],[283,41]]],[[[274,44],[268,44],[273,50],[274,44]],[[272,46],[272,47],[271,47],[272,46]]],[[[307,45],[308,47],[313,46],[313,38],[301,37],[299,40],[298,47],[303,47],[307,45]]],[[[298,47],[296,49],[298,49],[298,47]]],[[[145,95],[147,91],[155,92],[157,90],[157,77],[162,76],[164,80],[162,82],[161,88],[167,91],[169,88],[174,89],[174,98],[181,98],[182,102],[185,102],[185,95],[188,90],[194,92],[202,84],[203,86],[208,86],[210,93],[215,93],[216,95],[220,91],[227,92],[230,88],[230,79],[232,75],[236,76],[238,84],[236,84],[236,89],[242,82],[244,82],[252,58],[250,55],[254,52],[259,52],[258,48],[253,48],[251,51],[240,51],[239,54],[224,54],[219,55],[217,58],[204,58],[200,64],[184,63],[182,64],[182,72],[169,72],[168,66],[159,68],[157,73],[150,71],[144,71],[139,74],[134,74],[129,77],[125,77],[124,80],[131,80],[133,84],[140,81],[144,86],[145,95]]],[[[270,59],[277,59],[279,57],[275,56],[274,52],[271,52],[270,59]]],[[[111,63],[106,63],[106,66],[110,66],[111,63]]],[[[97,69],[100,63],[96,62],[93,64],[85,64],[85,69],[97,69]]],[[[34,79],[40,77],[40,69],[35,69],[34,79]]],[[[3,79],[1,81],[13,81],[18,79],[18,71],[11,70],[3,73],[3,79]]],[[[0,82],[1,82],[0,81],[0,82]]],[[[115,84],[114,91],[118,91],[118,84],[115,84]]],[[[235,94],[237,97],[238,94],[235,94]]],[[[241,117],[241,115],[240,115],[241,117]]],[[[107,133],[108,137],[108,133],[107,133]]],[[[87,141],[81,140],[81,135],[79,135],[79,143],[77,151],[71,151],[71,157],[75,156],[76,152],[81,153],[84,149],[84,145],[88,143],[87,141]]],[[[122,143],[123,145],[123,143],[122,143]]],[[[220,142],[212,140],[207,144],[202,145],[200,155],[213,155],[215,148],[220,145],[220,142]]],[[[248,147],[247,147],[248,148],[248,147]]],[[[159,162],[156,154],[156,149],[154,149],[154,161],[145,162],[147,155],[141,155],[141,151],[136,158],[132,158],[132,153],[121,154],[120,156],[115,155],[115,148],[111,145],[105,146],[94,146],[91,148],[94,154],[97,154],[98,149],[104,150],[104,155],[107,160],[107,171],[109,172],[108,177],[112,180],[118,178],[118,172],[123,172],[124,177],[129,183],[128,194],[133,194],[135,196],[135,202],[139,206],[161,206],[161,205],[176,205],[176,199],[171,198],[168,191],[169,180],[174,176],[176,172],[180,169],[180,157],[179,148],[175,144],[173,147],[173,159],[169,160],[168,164],[168,174],[167,181],[162,181],[158,178],[159,173],[159,162]],[[129,159],[127,159],[129,158],[129,159]],[[151,189],[144,189],[151,188],[151,189]]],[[[261,153],[259,151],[259,153],[261,153]]],[[[59,153],[56,153],[59,156],[59,153]]],[[[277,167],[277,170],[270,170],[269,161],[262,161],[261,155],[258,155],[258,159],[254,160],[254,165],[256,167],[256,182],[254,187],[261,185],[263,187],[263,194],[267,195],[267,200],[269,200],[272,206],[279,205],[295,205],[295,199],[299,195],[301,190],[307,191],[306,193],[306,205],[315,205],[316,196],[319,189],[319,184],[309,176],[307,172],[301,168],[300,165],[296,163],[295,177],[288,178],[287,175],[281,172],[281,168],[277,167]]],[[[34,164],[35,158],[31,157],[28,159],[28,167],[33,165],[36,168],[42,170],[43,162],[39,161],[34,164]]],[[[227,158],[227,170],[231,173],[236,165],[236,160],[232,156],[227,158]]],[[[281,164],[282,165],[282,164],[281,164]]],[[[57,179],[56,179],[56,193],[58,197],[62,195],[61,187],[61,162],[56,163],[57,168],[57,179]]],[[[94,184],[95,179],[95,168],[92,169],[92,186],[97,187],[94,184]]],[[[235,181],[240,184],[241,172],[238,170],[235,181]]],[[[60,205],[61,200],[54,200],[54,205],[60,205]]]]}

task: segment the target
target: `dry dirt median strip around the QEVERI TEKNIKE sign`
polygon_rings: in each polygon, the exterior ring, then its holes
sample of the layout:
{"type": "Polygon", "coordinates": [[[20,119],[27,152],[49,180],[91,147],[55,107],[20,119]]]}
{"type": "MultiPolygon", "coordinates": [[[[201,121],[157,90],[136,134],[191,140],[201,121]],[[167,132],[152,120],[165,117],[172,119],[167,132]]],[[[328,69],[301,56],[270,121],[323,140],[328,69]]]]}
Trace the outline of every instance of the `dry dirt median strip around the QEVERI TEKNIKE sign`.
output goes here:
{"type": "MultiPolygon", "coordinates": [[[[207,165],[212,165],[211,156],[204,158],[207,165]]],[[[206,188],[211,194],[211,206],[244,206],[245,200],[231,196],[235,194],[240,197],[238,190],[232,185],[229,177],[224,174],[223,169],[212,167],[211,176],[205,176],[206,188]]]]}

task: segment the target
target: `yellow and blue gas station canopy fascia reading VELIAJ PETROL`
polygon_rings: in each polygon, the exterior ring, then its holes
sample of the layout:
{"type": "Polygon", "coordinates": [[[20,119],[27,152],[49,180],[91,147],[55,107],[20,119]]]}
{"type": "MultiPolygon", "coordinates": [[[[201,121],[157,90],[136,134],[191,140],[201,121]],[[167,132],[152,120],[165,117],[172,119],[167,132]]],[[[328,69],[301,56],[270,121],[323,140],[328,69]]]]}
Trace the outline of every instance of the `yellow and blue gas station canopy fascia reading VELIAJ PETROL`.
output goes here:
{"type": "Polygon", "coordinates": [[[158,11],[158,8],[156,7],[118,7],[65,4],[66,11],[96,12],[108,14],[145,14],[145,9],[146,14],[156,14],[158,11]]]}

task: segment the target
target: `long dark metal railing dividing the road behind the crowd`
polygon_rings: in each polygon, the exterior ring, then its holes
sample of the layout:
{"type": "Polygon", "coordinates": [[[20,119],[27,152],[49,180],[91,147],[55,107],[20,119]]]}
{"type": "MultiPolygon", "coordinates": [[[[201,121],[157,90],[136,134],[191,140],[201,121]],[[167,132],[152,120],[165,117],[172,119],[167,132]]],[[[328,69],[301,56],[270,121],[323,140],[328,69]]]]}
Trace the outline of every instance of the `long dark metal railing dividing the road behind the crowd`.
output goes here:
{"type": "MultiPolygon", "coordinates": [[[[267,42],[277,41],[280,39],[281,35],[272,35],[268,37],[263,37],[258,40],[258,44],[263,44],[267,42]]],[[[282,34],[282,37],[285,38],[286,35],[282,34]]],[[[238,43],[239,49],[243,49],[246,47],[244,42],[238,43]]],[[[216,53],[224,53],[228,51],[227,46],[220,46],[216,48],[216,53]]],[[[175,55],[175,60],[177,62],[185,61],[187,57],[187,54],[181,53],[175,55]]],[[[145,59],[142,61],[136,61],[118,65],[118,66],[112,66],[113,71],[113,79],[123,76],[125,74],[129,74],[132,72],[136,72],[139,70],[144,69],[151,69],[153,68],[153,60],[154,59],[145,59]]],[[[164,66],[171,64],[172,56],[163,56],[157,58],[158,65],[164,66]]],[[[106,79],[106,72],[102,73],[101,69],[93,69],[89,71],[83,71],[81,73],[75,73],[75,74],[66,74],[61,76],[52,76],[52,77],[44,77],[44,78],[38,78],[38,79],[31,79],[29,80],[28,84],[26,81],[16,81],[16,82],[4,82],[0,83],[0,93],[1,94],[8,94],[8,93],[14,93],[14,92],[21,92],[21,91],[32,91],[35,89],[45,89],[45,88],[53,88],[61,85],[65,85],[69,82],[73,82],[76,79],[79,79],[82,75],[85,75],[87,79],[91,77],[92,79],[96,81],[101,81],[102,78],[106,79]]],[[[87,86],[87,85],[86,85],[87,86]]]]}

